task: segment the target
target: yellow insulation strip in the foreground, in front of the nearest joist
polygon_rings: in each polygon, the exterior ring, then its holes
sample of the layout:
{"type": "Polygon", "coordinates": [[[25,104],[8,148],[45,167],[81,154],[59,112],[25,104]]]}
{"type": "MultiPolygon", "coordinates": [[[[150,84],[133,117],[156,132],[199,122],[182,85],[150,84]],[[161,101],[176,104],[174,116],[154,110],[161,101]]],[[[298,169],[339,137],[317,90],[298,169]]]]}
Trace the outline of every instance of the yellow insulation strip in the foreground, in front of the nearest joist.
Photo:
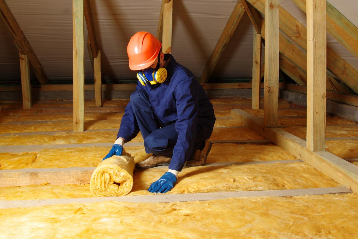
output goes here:
{"type": "Polygon", "coordinates": [[[4,238],[357,238],[357,194],[2,209],[4,238]]]}

